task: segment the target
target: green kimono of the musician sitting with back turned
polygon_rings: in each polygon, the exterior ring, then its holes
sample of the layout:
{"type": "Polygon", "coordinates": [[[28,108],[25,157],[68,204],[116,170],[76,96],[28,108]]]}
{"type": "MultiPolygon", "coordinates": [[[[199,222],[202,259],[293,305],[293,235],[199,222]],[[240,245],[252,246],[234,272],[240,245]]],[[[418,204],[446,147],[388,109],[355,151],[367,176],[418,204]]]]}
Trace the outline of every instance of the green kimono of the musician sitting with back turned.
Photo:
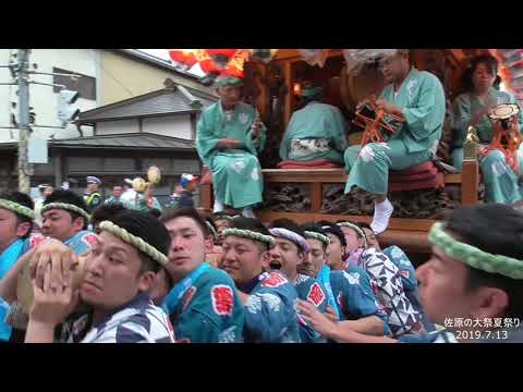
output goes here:
{"type": "Polygon", "coordinates": [[[308,102],[292,114],[281,140],[280,158],[296,161],[327,159],[343,163],[345,127],[343,114],[337,107],[308,102]]]}

